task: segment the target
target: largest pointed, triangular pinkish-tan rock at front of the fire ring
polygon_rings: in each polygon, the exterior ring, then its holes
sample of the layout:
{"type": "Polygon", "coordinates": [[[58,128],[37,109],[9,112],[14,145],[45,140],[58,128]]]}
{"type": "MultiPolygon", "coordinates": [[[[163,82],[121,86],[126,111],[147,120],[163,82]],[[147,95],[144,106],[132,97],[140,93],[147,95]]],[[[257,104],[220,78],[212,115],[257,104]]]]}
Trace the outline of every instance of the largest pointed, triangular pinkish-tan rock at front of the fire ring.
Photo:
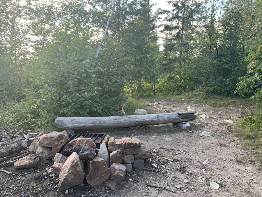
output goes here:
{"type": "Polygon", "coordinates": [[[59,190],[63,191],[70,187],[82,184],[86,174],[84,173],[84,163],[78,154],[73,152],[64,163],[59,175],[59,190]]]}

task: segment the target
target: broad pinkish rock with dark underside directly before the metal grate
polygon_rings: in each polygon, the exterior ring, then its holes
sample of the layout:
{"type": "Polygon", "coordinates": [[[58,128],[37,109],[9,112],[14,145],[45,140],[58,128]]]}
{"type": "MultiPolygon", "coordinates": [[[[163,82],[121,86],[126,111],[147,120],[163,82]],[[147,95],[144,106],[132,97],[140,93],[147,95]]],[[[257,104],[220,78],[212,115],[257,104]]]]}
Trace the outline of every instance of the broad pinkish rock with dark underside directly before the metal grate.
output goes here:
{"type": "Polygon", "coordinates": [[[96,145],[91,138],[77,138],[65,144],[65,147],[63,148],[63,151],[61,151],[61,154],[67,157],[69,157],[73,152],[79,154],[81,149],[85,145],[88,145],[93,149],[96,148],[96,145]]]}

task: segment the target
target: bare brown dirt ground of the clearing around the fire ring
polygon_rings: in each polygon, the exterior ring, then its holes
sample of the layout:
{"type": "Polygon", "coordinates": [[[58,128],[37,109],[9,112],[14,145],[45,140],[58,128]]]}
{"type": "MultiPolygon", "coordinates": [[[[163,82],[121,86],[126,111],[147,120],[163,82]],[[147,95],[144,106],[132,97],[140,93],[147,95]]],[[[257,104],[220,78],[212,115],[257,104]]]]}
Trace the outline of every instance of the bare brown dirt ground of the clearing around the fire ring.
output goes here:
{"type": "Polygon", "coordinates": [[[181,99],[171,98],[154,102],[150,102],[152,106],[148,107],[153,113],[159,112],[160,109],[187,111],[186,108],[191,106],[199,114],[215,118],[197,118],[192,121],[192,132],[181,130],[175,125],[148,126],[146,133],[140,127],[89,131],[107,133],[115,138],[137,137],[142,146],[152,153],[151,161],[145,162],[145,168],[152,171],[133,169],[114,191],[110,190],[105,182],[96,187],[82,184],[70,188],[68,194],[64,191],[60,193],[56,187],[57,176],[34,179],[37,172],[45,166],[35,168],[31,172],[15,170],[10,166],[1,168],[12,174],[0,172],[0,196],[262,196],[262,173],[256,156],[245,149],[243,141],[237,139],[232,132],[236,128],[235,122],[240,118],[239,106],[213,108],[197,102],[185,104],[181,99]],[[160,104],[154,105],[154,102],[160,104]],[[193,104],[197,106],[193,107],[193,104]],[[232,120],[234,123],[227,123],[225,120],[232,120]],[[232,130],[228,130],[230,127],[232,130]],[[199,136],[203,131],[213,135],[199,136]],[[160,172],[151,167],[151,163],[157,163],[157,157],[160,172]],[[203,161],[207,159],[208,164],[204,165],[203,161]],[[236,159],[243,161],[237,162],[236,159]],[[185,179],[189,183],[184,183],[185,179]],[[210,181],[220,182],[219,190],[211,189],[210,181]]]}

